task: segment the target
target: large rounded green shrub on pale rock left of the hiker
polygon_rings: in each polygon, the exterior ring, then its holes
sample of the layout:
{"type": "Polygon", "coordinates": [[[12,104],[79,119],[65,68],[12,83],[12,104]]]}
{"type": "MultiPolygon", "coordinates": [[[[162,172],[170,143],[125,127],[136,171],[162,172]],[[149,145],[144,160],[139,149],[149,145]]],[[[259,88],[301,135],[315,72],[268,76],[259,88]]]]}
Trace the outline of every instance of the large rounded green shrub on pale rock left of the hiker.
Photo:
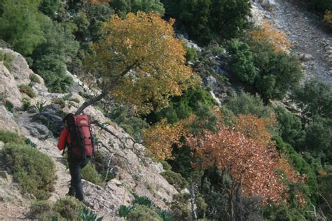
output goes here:
{"type": "Polygon", "coordinates": [[[3,155],[24,193],[34,194],[36,199],[48,199],[56,180],[55,164],[50,157],[18,143],[6,143],[3,155]]]}

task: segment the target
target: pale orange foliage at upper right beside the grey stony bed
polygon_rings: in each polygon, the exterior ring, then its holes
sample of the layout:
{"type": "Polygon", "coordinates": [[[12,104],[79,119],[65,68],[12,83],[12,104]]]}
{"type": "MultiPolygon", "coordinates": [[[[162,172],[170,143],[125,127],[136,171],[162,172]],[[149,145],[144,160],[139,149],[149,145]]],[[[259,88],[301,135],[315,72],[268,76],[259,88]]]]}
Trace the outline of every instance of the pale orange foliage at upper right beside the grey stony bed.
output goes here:
{"type": "Polygon", "coordinates": [[[268,41],[275,48],[275,52],[286,51],[291,47],[291,41],[287,39],[286,34],[272,26],[267,20],[264,20],[261,29],[251,31],[251,34],[258,41],[268,41]]]}

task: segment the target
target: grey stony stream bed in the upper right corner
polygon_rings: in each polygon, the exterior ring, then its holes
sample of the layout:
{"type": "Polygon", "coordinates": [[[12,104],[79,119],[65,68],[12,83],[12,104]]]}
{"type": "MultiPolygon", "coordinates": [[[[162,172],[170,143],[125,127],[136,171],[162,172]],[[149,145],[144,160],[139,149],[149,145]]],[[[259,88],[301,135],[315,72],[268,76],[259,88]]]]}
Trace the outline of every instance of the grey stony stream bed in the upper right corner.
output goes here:
{"type": "Polygon", "coordinates": [[[264,17],[289,35],[291,51],[302,57],[305,78],[332,85],[332,35],[322,28],[319,18],[293,0],[276,0],[264,17]]]}

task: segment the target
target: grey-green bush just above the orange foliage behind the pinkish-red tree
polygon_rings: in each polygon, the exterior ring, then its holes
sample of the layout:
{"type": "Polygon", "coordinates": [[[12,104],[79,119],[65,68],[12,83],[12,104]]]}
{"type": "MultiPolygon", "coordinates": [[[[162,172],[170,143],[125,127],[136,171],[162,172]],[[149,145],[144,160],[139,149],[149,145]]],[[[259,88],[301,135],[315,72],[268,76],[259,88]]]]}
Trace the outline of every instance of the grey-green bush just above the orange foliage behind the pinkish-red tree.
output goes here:
{"type": "Polygon", "coordinates": [[[251,95],[242,92],[240,95],[230,97],[230,100],[225,104],[228,110],[231,110],[235,115],[256,115],[257,117],[270,117],[272,108],[265,106],[261,97],[258,94],[251,95]]]}

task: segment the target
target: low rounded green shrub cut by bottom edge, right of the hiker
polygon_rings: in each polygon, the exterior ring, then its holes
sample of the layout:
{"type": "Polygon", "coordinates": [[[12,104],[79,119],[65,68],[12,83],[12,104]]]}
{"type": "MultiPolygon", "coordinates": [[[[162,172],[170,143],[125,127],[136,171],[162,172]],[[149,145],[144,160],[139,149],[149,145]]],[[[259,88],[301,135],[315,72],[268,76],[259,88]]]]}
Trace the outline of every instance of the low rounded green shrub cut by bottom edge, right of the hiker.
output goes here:
{"type": "Polygon", "coordinates": [[[153,208],[149,208],[143,205],[135,205],[134,209],[130,210],[127,215],[127,220],[132,221],[162,221],[162,218],[153,211],[153,208]]]}

